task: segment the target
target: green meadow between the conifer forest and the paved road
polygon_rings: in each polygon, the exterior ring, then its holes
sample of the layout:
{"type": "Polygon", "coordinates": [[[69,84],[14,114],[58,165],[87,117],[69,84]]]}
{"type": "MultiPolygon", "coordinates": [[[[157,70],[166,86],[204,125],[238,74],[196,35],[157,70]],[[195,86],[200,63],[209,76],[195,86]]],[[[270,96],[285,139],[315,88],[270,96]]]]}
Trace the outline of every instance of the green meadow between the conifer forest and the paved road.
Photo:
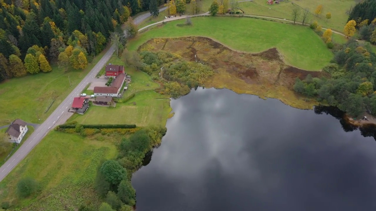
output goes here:
{"type": "Polygon", "coordinates": [[[106,53],[104,50],[85,70],[64,72],[53,67],[51,72],[40,72],[21,78],[12,78],[0,84],[0,125],[6,125],[20,118],[28,123],[40,124],[58,107],[83,77],[106,53]],[[68,79],[69,76],[69,79],[68,79]],[[69,80],[72,84],[70,86],[69,80]],[[50,109],[45,110],[52,102],[50,109]],[[41,121],[38,121],[38,116],[41,121]]]}

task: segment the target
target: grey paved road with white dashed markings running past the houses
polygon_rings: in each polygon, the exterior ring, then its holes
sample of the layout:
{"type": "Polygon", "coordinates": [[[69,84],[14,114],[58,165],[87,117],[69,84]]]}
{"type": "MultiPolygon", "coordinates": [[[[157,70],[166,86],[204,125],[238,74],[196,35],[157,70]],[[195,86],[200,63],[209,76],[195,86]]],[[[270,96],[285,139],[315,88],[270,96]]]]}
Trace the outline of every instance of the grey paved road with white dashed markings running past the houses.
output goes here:
{"type": "MultiPolygon", "coordinates": [[[[164,11],[166,8],[162,8],[159,11],[164,11]]],[[[139,22],[150,17],[150,13],[141,15],[137,17],[136,20],[139,22]]],[[[105,53],[101,60],[91,69],[88,75],[77,85],[76,88],[61,102],[58,108],[53,111],[53,113],[38,127],[35,129],[34,133],[27,140],[23,140],[24,143],[21,147],[0,167],[0,181],[2,181],[9,172],[11,172],[14,167],[23,160],[27,154],[43,139],[43,137],[52,130],[57,122],[61,119],[66,121],[67,113],[70,105],[72,104],[73,98],[80,95],[82,90],[86,87],[91,79],[96,77],[97,73],[103,66],[106,65],[108,60],[111,58],[112,54],[115,52],[115,48],[111,48],[105,53]],[[64,117],[63,117],[64,116],[64,117]],[[63,119],[62,119],[63,118],[63,119]]],[[[51,149],[53,150],[53,149],[51,149]]]]}

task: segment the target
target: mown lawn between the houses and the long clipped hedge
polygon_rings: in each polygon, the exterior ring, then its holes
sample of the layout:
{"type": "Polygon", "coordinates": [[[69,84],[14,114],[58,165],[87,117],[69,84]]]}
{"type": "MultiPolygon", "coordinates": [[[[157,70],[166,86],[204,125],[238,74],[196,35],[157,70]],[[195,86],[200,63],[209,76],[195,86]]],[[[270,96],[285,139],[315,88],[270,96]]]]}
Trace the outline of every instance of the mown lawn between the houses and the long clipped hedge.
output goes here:
{"type": "Polygon", "coordinates": [[[166,125],[171,112],[170,99],[153,90],[138,92],[127,102],[114,107],[92,105],[85,115],[73,120],[78,124],[136,124],[136,126],[166,125]]]}

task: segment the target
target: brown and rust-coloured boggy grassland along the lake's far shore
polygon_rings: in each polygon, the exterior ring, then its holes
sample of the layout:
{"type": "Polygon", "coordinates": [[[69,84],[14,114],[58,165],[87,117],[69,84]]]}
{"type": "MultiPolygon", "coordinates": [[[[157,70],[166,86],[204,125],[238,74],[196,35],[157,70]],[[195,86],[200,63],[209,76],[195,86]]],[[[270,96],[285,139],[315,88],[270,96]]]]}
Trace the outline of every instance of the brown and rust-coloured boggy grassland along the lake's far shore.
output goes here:
{"type": "Polygon", "coordinates": [[[205,82],[207,88],[227,88],[261,98],[277,98],[300,109],[312,109],[312,105],[317,102],[307,100],[293,91],[295,78],[304,79],[308,74],[321,77],[324,74],[287,65],[276,48],[250,54],[232,50],[206,37],[155,38],[141,45],[138,50],[164,50],[188,61],[204,62],[215,71],[205,82]]]}

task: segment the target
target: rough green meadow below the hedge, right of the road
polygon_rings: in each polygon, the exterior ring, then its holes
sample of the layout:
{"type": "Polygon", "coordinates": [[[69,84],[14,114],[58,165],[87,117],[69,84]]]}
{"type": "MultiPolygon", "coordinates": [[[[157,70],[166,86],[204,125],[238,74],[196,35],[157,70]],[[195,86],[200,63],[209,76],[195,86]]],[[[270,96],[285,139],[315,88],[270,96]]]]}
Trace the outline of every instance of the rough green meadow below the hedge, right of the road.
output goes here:
{"type": "MultiPolygon", "coordinates": [[[[103,137],[102,137],[103,138],[103,137]]],[[[94,190],[96,168],[102,158],[117,155],[114,142],[120,137],[105,140],[83,138],[76,134],[50,132],[0,182],[0,202],[22,210],[78,210],[79,205],[91,202],[99,206],[101,200],[94,190]],[[18,179],[31,177],[39,182],[39,193],[27,199],[17,198],[18,179]]]]}

